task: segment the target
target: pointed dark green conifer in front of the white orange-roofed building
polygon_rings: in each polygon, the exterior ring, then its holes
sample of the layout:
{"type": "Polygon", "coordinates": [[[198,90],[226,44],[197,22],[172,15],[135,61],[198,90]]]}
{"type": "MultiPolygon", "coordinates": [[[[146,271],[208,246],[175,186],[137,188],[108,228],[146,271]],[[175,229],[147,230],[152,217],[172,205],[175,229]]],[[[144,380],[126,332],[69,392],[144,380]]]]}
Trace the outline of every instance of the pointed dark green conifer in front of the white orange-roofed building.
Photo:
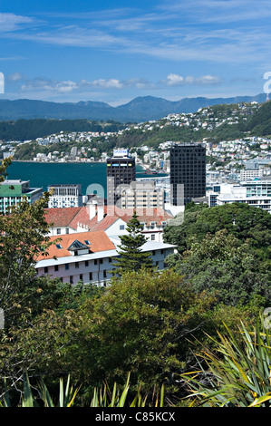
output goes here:
{"type": "Polygon", "coordinates": [[[134,211],[130,222],[127,224],[128,235],[121,236],[121,246],[113,266],[116,267],[114,274],[121,276],[124,272],[138,271],[140,268],[152,269],[150,252],[143,252],[142,246],[147,238],[141,233],[142,225],[134,211]]]}

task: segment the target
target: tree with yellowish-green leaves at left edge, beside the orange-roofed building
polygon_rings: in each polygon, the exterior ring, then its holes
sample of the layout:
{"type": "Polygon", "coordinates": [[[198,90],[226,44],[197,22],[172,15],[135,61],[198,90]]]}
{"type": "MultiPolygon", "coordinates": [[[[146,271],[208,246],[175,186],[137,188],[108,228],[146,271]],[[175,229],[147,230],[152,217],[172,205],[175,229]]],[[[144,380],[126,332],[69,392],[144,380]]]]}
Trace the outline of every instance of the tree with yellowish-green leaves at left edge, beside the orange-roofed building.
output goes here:
{"type": "Polygon", "coordinates": [[[44,218],[48,193],[30,204],[24,198],[0,217],[0,306],[5,310],[6,324],[15,321],[25,309],[31,308],[38,281],[34,264],[39,255],[46,255],[52,243],[48,224],[44,218]]]}

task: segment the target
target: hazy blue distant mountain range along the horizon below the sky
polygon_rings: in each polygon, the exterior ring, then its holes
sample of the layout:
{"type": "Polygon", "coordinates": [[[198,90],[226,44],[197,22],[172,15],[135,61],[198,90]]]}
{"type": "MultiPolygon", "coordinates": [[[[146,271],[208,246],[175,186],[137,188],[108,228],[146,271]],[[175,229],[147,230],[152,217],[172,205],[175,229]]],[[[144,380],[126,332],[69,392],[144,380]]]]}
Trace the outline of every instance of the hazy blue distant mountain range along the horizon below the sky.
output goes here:
{"type": "Polygon", "coordinates": [[[199,108],[239,102],[265,102],[266,94],[233,98],[184,98],[172,102],[163,98],[143,96],[126,104],[112,107],[105,102],[44,102],[28,99],[0,100],[0,121],[20,119],[86,119],[91,121],[142,122],[160,120],[169,113],[196,112],[199,108]]]}

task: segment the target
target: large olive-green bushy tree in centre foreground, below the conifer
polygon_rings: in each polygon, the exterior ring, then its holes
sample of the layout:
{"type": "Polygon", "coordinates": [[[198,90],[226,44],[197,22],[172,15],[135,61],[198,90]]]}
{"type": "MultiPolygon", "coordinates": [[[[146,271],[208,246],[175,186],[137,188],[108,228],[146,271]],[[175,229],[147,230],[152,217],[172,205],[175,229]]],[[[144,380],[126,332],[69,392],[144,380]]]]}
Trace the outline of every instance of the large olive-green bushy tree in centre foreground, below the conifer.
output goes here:
{"type": "Polygon", "coordinates": [[[141,270],[113,277],[97,300],[86,301],[80,316],[85,330],[73,354],[85,382],[133,384],[172,382],[184,368],[192,334],[199,333],[213,298],[196,294],[179,274],[141,270]]]}

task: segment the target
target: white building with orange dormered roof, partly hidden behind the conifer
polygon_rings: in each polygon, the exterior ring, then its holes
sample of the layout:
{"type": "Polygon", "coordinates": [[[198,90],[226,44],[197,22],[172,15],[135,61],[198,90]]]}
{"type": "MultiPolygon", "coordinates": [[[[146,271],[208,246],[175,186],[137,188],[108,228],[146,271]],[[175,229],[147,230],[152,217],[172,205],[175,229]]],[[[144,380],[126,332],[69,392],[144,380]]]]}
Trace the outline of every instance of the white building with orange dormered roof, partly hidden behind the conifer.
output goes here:
{"type": "MultiPolygon", "coordinates": [[[[58,277],[63,283],[71,285],[82,281],[83,284],[107,286],[114,259],[120,256],[117,251],[120,244],[120,238],[110,238],[103,231],[64,235],[62,241],[49,247],[47,257],[41,254],[35,269],[38,276],[58,277]]],[[[174,252],[175,247],[148,241],[141,250],[150,252],[153,265],[162,270],[165,258],[174,252]]]]}

